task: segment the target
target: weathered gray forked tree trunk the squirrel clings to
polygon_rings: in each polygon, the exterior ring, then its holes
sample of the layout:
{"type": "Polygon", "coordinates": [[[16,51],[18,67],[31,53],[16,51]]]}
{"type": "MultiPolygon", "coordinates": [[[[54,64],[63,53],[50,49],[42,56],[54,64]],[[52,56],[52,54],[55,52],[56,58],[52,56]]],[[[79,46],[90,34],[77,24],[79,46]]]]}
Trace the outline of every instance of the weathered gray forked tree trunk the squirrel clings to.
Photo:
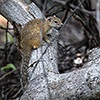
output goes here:
{"type": "MultiPolygon", "coordinates": [[[[15,21],[17,28],[19,28],[19,24],[23,27],[33,17],[42,18],[41,11],[33,3],[28,7],[20,1],[17,2],[17,0],[6,0],[3,3],[0,2],[0,5],[0,13],[9,21],[15,21]]],[[[58,32],[53,30],[53,33],[58,32]]],[[[53,36],[55,35],[52,34],[53,36]]],[[[47,43],[44,43],[42,47],[32,52],[29,64],[39,59],[41,49],[43,52],[46,46],[47,43]]],[[[31,74],[31,67],[28,69],[29,76],[32,75],[32,77],[21,100],[100,99],[99,52],[100,49],[90,51],[88,62],[84,64],[83,68],[65,74],[59,74],[57,68],[57,41],[55,40],[40,60],[34,73],[31,74]],[[43,71],[43,65],[46,73],[43,71]]]]}

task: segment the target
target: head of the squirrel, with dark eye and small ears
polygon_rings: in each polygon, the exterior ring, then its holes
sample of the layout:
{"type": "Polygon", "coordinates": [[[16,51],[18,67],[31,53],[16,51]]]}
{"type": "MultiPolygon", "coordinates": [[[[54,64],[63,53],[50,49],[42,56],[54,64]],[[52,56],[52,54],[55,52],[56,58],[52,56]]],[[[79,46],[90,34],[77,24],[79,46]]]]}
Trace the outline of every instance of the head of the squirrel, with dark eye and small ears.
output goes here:
{"type": "Polygon", "coordinates": [[[50,27],[54,27],[54,28],[60,28],[63,25],[61,20],[57,18],[56,16],[46,18],[46,23],[50,27]]]}

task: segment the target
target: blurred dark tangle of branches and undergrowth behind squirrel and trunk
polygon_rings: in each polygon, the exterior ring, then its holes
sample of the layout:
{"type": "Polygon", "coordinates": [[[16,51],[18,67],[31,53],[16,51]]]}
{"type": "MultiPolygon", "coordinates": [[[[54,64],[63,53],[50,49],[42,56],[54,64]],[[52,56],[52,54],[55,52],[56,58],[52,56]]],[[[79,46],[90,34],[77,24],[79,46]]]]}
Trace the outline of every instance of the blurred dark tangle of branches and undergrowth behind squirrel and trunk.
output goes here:
{"type": "MultiPolygon", "coordinates": [[[[34,2],[42,11],[45,0],[21,0],[27,5],[34,2]]],[[[60,73],[81,68],[87,62],[87,51],[99,47],[100,1],[48,0],[45,16],[56,15],[64,24],[58,41],[58,69],[60,73]],[[73,14],[72,17],[70,15],[73,14]],[[70,19],[68,19],[70,18],[70,19]]],[[[0,15],[0,99],[13,100],[20,88],[21,56],[14,43],[14,28],[0,15]]]]}

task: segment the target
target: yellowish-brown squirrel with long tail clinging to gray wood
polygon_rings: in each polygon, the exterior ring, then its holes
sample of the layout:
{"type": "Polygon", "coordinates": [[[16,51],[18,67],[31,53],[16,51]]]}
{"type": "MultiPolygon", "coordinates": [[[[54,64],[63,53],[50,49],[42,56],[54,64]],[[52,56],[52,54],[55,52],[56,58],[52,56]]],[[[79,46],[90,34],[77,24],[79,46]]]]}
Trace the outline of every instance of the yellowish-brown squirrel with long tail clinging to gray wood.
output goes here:
{"type": "MultiPolygon", "coordinates": [[[[20,47],[22,52],[22,63],[21,63],[20,74],[21,74],[22,88],[27,83],[27,76],[28,76],[27,69],[31,55],[31,49],[32,47],[34,49],[37,49],[40,46],[41,22],[42,19],[30,20],[28,23],[25,24],[21,32],[20,47]]],[[[43,39],[49,43],[50,41],[47,39],[48,31],[52,27],[60,28],[62,25],[63,24],[61,20],[56,16],[47,17],[43,22],[43,39]]]]}

